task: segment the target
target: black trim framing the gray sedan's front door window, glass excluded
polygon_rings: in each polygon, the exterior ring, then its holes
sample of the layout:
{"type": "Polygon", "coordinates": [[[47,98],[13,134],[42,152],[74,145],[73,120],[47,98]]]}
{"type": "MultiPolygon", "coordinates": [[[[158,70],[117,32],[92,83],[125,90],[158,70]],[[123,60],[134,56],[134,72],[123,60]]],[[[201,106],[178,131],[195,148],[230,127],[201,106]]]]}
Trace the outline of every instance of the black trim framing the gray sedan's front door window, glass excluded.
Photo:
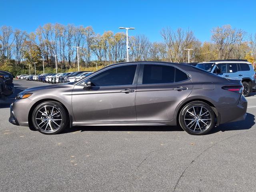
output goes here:
{"type": "Polygon", "coordinates": [[[78,86],[84,86],[82,85],[83,82],[85,82],[87,79],[90,79],[92,78],[93,76],[97,75],[97,74],[100,74],[106,70],[109,70],[109,69],[113,69],[113,68],[116,68],[116,67],[122,67],[122,66],[128,66],[128,65],[136,65],[136,70],[135,70],[135,74],[134,74],[134,79],[133,79],[133,82],[132,84],[130,85],[110,85],[110,86],[93,86],[93,87],[122,87],[122,86],[134,86],[134,85],[137,85],[137,82],[138,82],[138,76],[139,76],[139,71],[140,71],[140,66],[141,64],[139,63],[130,63],[130,64],[126,64],[126,65],[115,65],[115,66],[112,66],[112,67],[108,67],[104,70],[100,70],[99,72],[94,72],[92,73],[91,75],[89,75],[88,77],[86,77],[85,79],[83,79],[82,81],[78,81],[75,85],[78,85],[78,86]]]}

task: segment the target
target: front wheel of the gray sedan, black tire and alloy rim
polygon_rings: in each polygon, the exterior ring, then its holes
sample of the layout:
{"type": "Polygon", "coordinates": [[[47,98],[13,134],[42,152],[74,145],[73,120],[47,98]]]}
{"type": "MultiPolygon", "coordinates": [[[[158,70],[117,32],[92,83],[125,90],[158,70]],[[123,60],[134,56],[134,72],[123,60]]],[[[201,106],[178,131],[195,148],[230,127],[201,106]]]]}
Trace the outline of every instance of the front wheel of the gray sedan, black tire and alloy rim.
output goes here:
{"type": "Polygon", "coordinates": [[[32,113],[32,124],[39,132],[52,135],[60,133],[68,127],[69,118],[61,103],[49,101],[36,106],[32,113]],[[48,116],[46,117],[46,115],[48,116]],[[42,118],[42,120],[40,118],[42,118]]]}

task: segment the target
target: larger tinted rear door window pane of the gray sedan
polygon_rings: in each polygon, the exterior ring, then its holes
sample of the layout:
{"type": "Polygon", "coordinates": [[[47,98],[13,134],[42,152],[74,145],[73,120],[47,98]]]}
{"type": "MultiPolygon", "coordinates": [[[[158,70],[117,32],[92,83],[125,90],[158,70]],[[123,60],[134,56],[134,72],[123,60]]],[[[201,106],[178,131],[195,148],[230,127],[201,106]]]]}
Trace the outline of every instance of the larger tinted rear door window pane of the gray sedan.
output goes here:
{"type": "Polygon", "coordinates": [[[173,83],[174,73],[173,66],[145,64],[142,84],[173,83]]]}

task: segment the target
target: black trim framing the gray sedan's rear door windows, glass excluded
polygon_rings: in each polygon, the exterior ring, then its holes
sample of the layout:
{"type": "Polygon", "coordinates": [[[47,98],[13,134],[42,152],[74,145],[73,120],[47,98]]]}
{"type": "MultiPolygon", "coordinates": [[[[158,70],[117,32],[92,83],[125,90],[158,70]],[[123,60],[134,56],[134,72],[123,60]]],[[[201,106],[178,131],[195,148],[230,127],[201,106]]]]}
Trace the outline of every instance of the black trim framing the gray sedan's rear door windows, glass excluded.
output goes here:
{"type": "Polygon", "coordinates": [[[139,74],[139,78],[138,78],[138,85],[162,85],[162,84],[174,84],[174,83],[180,83],[180,82],[185,82],[191,79],[190,74],[188,74],[186,71],[184,71],[183,69],[174,66],[172,64],[162,64],[162,63],[143,63],[140,65],[140,74],[139,74]],[[143,79],[143,72],[144,72],[144,65],[148,65],[148,64],[152,64],[152,65],[166,65],[166,66],[172,66],[174,67],[174,82],[173,83],[150,83],[150,84],[142,84],[142,79],[143,79]],[[175,82],[175,76],[176,76],[176,68],[181,70],[182,72],[186,73],[188,76],[188,79],[184,80],[184,81],[179,81],[179,82],[175,82]]]}

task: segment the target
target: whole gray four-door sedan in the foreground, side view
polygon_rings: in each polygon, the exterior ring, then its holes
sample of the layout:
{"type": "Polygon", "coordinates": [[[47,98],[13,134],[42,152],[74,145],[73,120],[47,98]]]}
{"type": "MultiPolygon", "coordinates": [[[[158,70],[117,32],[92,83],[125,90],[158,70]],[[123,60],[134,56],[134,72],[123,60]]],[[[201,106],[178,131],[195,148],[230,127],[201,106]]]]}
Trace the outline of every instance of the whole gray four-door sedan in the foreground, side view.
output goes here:
{"type": "Polygon", "coordinates": [[[186,64],[113,64],[66,84],[17,95],[9,121],[44,134],[86,125],[180,125],[194,135],[246,118],[241,81],[186,64]]]}

